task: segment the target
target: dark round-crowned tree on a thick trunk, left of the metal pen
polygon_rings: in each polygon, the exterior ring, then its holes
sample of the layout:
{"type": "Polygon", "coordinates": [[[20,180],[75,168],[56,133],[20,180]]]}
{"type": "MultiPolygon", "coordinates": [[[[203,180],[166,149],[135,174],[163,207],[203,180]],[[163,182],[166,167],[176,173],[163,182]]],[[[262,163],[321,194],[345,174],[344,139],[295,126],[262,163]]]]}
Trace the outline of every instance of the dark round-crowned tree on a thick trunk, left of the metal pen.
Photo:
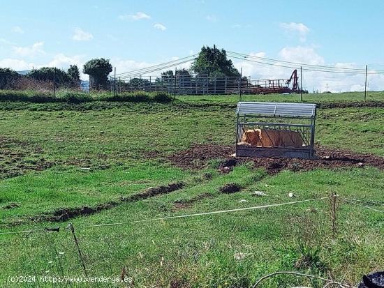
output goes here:
{"type": "Polygon", "coordinates": [[[91,87],[105,86],[108,83],[108,74],[112,72],[110,59],[91,59],[84,64],[82,72],[89,75],[91,87]]]}

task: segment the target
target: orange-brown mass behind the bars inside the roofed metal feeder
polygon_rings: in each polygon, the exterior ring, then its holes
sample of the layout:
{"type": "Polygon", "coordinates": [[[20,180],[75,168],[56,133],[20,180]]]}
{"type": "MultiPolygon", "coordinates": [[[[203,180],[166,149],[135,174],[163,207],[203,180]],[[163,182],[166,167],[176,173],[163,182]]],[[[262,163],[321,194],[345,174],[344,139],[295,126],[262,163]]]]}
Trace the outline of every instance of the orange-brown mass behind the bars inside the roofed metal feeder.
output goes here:
{"type": "Polygon", "coordinates": [[[258,147],[301,148],[304,143],[299,132],[290,130],[248,129],[243,130],[239,144],[258,147]]]}

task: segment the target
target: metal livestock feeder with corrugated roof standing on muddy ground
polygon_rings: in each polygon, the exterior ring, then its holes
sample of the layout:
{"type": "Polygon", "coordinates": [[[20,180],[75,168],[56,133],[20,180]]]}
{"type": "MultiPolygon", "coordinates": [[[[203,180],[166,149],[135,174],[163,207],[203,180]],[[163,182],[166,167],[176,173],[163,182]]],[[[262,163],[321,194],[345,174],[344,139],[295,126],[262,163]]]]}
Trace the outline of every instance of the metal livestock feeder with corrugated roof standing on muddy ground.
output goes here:
{"type": "Polygon", "coordinates": [[[316,104],[237,103],[236,156],[316,158],[316,104]]]}

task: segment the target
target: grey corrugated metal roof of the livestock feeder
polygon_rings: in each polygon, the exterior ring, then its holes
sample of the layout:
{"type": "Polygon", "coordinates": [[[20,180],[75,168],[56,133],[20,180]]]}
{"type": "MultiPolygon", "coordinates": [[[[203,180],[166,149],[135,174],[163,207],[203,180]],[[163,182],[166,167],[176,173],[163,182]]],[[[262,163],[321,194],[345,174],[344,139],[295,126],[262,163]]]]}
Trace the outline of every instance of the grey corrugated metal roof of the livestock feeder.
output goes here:
{"type": "Polygon", "coordinates": [[[236,114],[311,118],[316,116],[316,104],[239,102],[236,114]]]}

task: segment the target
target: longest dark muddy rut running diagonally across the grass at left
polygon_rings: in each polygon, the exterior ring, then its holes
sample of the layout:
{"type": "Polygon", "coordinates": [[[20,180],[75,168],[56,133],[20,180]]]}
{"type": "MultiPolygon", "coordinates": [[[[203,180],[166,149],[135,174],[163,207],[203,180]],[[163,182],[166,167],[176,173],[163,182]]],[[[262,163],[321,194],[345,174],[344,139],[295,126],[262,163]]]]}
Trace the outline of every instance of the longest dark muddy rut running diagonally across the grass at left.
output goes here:
{"type": "MultiPolygon", "coordinates": [[[[125,202],[136,202],[141,199],[147,199],[150,197],[154,197],[157,195],[163,195],[167,194],[169,192],[173,192],[175,190],[179,190],[184,187],[184,183],[177,182],[177,183],[171,183],[169,185],[163,185],[159,187],[151,187],[145,190],[144,192],[140,192],[135,195],[131,195],[129,197],[121,197],[117,201],[111,201],[103,204],[99,204],[97,206],[82,206],[82,207],[74,207],[74,208],[64,208],[64,209],[57,209],[53,211],[52,213],[45,213],[43,215],[36,215],[29,220],[34,222],[41,222],[41,221],[50,221],[50,222],[61,222],[66,221],[78,216],[85,216],[85,215],[91,215],[94,213],[101,212],[103,210],[112,209],[115,206],[118,206],[125,202]]],[[[21,224],[21,222],[17,222],[17,225],[21,224]]]]}

